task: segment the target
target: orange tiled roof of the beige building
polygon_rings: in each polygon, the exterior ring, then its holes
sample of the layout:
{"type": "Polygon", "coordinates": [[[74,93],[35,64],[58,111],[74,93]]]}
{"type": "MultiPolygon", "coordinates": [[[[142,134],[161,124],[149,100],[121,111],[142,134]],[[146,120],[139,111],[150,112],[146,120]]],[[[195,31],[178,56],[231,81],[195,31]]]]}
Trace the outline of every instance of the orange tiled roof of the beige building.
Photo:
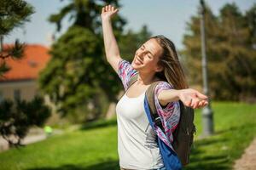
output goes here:
{"type": "Polygon", "coordinates": [[[20,81],[38,78],[38,73],[49,61],[49,48],[38,44],[26,44],[22,59],[7,58],[6,63],[11,68],[0,82],[20,81]]]}

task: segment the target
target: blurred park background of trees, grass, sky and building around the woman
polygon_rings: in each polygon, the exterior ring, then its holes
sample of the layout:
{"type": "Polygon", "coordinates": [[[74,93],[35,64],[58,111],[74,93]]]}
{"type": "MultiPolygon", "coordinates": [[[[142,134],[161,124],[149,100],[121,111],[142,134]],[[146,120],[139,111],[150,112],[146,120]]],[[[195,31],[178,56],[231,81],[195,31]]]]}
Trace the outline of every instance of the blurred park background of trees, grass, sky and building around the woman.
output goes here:
{"type": "Polygon", "coordinates": [[[115,105],[124,89],[100,18],[109,3],[119,8],[112,23],[122,58],[131,62],[162,34],[190,88],[211,99],[211,116],[195,111],[185,169],[256,168],[255,153],[243,155],[256,136],[255,0],[0,2],[0,169],[119,169],[115,105]]]}

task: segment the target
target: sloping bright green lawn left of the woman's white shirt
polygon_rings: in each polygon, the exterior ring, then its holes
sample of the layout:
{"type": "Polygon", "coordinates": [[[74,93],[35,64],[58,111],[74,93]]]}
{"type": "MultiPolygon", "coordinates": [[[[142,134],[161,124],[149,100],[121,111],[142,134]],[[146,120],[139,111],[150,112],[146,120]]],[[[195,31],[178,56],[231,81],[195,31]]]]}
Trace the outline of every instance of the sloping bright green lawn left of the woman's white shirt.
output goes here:
{"type": "Polygon", "coordinates": [[[116,126],[54,136],[0,154],[0,169],[118,169],[116,126]]]}

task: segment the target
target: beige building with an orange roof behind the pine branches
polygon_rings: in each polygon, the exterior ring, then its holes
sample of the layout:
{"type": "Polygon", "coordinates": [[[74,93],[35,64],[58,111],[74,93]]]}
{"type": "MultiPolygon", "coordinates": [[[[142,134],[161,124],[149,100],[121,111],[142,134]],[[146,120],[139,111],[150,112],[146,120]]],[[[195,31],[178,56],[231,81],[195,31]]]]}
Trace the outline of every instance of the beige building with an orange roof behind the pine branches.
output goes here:
{"type": "Polygon", "coordinates": [[[0,101],[33,99],[38,94],[39,72],[44,69],[49,59],[49,48],[39,44],[27,44],[22,59],[6,59],[10,71],[0,77],[0,101]]]}

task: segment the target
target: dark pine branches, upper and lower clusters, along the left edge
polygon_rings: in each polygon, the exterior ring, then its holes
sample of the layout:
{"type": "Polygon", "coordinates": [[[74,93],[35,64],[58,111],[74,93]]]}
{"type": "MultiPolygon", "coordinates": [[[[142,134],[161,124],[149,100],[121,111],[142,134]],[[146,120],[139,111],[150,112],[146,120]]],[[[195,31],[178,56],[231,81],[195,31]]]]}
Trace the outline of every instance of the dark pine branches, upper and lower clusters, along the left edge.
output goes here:
{"type": "MultiPolygon", "coordinates": [[[[6,64],[7,58],[22,59],[24,43],[19,40],[14,45],[3,47],[3,37],[9,35],[15,28],[28,21],[34,13],[31,5],[22,0],[1,0],[0,6],[0,78],[4,79],[4,73],[9,71],[6,64]]],[[[32,126],[42,126],[49,117],[50,111],[44,105],[44,100],[36,96],[31,102],[16,99],[15,102],[3,99],[0,103],[0,134],[9,142],[10,146],[21,145],[21,139],[26,136],[32,126]]]]}

